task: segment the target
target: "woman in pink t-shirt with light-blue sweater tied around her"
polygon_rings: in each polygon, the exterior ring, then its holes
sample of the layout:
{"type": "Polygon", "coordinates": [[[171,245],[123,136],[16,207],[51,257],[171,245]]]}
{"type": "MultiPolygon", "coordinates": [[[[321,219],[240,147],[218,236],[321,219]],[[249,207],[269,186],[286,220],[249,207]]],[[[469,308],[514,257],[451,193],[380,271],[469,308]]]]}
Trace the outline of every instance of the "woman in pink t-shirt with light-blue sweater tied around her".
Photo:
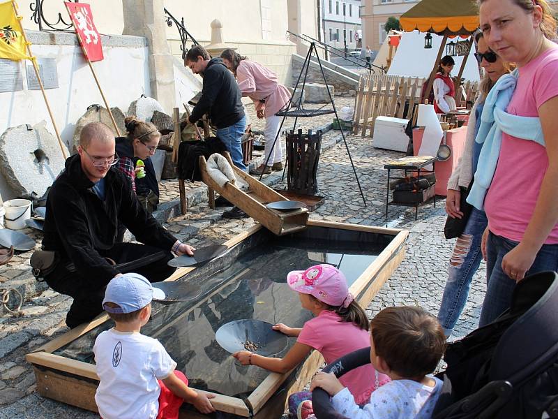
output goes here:
{"type": "Polygon", "coordinates": [[[550,41],[556,22],[547,1],[480,3],[488,46],[518,66],[506,112],[538,117],[544,138],[540,145],[502,133],[484,201],[488,287],[480,325],[486,325],[509,307],[515,283],[526,274],[558,270],[558,45],[550,41]]]}

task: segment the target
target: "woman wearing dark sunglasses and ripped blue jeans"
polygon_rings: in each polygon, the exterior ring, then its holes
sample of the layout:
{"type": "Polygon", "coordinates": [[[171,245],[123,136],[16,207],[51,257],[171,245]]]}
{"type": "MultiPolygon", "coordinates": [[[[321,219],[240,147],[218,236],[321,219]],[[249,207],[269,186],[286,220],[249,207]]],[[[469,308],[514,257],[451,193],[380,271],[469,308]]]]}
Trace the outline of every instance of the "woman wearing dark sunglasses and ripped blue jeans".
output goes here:
{"type": "MultiPolygon", "coordinates": [[[[458,219],[464,216],[463,209],[460,208],[461,193],[469,188],[481,153],[482,145],[475,142],[475,137],[481,124],[485,98],[498,79],[511,71],[511,65],[490,50],[482,32],[476,33],[475,42],[475,57],[484,71],[481,92],[471,110],[463,154],[448,180],[446,198],[448,216],[458,219]]],[[[481,240],[487,225],[484,211],[473,208],[462,234],[455,242],[448,265],[446,288],[438,313],[438,320],[444,328],[446,337],[450,337],[453,332],[467,302],[473,275],[481,265],[481,240]]]]}

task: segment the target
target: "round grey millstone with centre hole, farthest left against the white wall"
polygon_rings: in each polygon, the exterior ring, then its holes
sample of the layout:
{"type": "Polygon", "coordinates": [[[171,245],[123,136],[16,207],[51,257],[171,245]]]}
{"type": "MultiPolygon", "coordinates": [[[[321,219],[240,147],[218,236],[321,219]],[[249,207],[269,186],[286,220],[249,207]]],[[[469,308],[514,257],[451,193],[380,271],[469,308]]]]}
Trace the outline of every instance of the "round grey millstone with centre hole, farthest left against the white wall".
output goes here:
{"type": "Polygon", "coordinates": [[[45,124],[14,126],[0,136],[0,170],[17,196],[42,196],[64,168],[58,140],[45,124]]]}

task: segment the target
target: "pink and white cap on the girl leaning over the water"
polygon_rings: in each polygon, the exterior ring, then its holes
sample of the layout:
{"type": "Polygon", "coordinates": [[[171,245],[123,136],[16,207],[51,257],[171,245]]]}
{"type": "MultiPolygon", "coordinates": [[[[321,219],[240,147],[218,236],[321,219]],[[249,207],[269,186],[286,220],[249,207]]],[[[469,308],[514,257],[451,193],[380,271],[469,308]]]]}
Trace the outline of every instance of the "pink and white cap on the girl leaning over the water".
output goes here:
{"type": "Polygon", "coordinates": [[[297,293],[310,294],[332,307],[349,307],[354,297],[345,275],[331,265],[314,265],[305,271],[287,274],[287,284],[297,293]]]}

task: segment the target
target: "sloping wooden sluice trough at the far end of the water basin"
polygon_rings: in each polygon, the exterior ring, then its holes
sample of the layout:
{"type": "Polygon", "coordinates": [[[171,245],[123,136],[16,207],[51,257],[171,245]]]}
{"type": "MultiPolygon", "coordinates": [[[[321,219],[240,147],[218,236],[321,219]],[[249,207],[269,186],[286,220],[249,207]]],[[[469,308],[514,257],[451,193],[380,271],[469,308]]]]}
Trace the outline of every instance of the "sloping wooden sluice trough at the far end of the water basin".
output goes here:
{"type": "Polygon", "coordinates": [[[306,228],[309,214],[307,208],[289,212],[270,210],[266,207],[266,204],[288,199],[234,166],[229,153],[225,153],[224,156],[225,159],[229,161],[232,170],[234,170],[234,175],[242,179],[243,182],[246,182],[250,189],[246,192],[241,191],[238,186],[230,182],[227,182],[224,186],[219,186],[207,173],[206,159],[204,156],[199,156],[199,172],[202,175],[202,182],[204,182],[209,189],[217,191],[229,202],[239,207],[253,219],[262,223],[268,230],[276,235],[294,233],[295,231],[306,228]]]}

